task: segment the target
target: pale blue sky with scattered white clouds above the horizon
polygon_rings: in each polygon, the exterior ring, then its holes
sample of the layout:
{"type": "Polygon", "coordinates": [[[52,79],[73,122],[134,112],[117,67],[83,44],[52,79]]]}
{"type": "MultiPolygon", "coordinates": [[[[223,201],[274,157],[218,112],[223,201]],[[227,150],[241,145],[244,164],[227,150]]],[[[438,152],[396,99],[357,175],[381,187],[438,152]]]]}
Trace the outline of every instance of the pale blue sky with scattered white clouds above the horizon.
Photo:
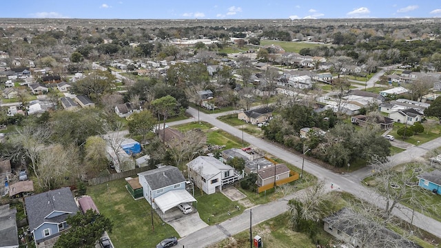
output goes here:
{"type": "Polygon", "coordinates": [[[440,17],[440,0],[12,0],[0,18],[339,19],[440,17]]]}

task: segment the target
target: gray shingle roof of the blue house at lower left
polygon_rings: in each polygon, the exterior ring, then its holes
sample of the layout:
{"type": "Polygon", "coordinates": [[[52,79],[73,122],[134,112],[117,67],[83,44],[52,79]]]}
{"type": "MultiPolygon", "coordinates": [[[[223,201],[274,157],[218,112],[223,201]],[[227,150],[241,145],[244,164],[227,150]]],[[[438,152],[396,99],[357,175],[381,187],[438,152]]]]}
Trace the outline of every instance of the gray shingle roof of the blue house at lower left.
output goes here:
{"type": "Polygon", "coordinates": [[[30,230],[34,230],[45,222],[63,222],[70,214],[78,211],[74,196],[69,187],[55,189],[50,192],[36,194],[25,198],[26,213],[30,230]],[[46,218],[54,211],[64,212],[61,216],[55,218],[46,218]]]}

